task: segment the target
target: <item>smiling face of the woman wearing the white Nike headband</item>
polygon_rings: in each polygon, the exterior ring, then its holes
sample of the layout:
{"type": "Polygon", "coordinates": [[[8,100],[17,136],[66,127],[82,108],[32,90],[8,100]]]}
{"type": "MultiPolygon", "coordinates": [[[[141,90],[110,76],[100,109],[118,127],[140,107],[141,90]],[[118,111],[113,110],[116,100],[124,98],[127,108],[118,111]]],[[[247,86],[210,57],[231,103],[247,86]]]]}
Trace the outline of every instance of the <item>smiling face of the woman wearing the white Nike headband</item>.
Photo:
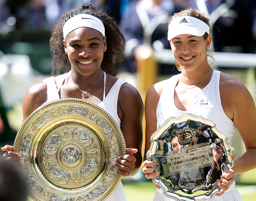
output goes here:
{"type": "Polygon", "coordinates": [[[100,69],[106,37],[99,31],[80,27],[67,35],[64,45],[73,70],[86,76],[100,69]]]}

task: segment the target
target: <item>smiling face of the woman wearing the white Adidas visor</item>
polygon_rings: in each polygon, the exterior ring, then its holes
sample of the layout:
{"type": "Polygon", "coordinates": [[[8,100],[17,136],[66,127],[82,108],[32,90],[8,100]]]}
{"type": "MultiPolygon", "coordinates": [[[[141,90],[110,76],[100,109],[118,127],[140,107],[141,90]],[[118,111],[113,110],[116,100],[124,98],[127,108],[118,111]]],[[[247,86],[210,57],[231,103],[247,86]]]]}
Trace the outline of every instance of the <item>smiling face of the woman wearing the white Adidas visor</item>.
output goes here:
{"type": "Polygon", "coordinates": [[[206,40],[203,36],[189,34],[178,35],[170,40],[172,53],[181,69],[194,71],[208,65],[206,47],[211,45],[211,36],[206,40]]]}

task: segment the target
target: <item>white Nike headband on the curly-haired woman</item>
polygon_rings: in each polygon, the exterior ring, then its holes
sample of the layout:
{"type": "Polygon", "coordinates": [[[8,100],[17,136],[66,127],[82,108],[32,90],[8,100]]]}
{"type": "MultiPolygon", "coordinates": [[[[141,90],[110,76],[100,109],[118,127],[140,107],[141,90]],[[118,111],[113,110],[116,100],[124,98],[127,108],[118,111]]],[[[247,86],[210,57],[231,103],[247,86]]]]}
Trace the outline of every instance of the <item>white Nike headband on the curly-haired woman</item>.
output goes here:
{"type": "Polygon", "coordinates": [[[105,27],[102,21],[89,14],[80,14],[75,15],[70,18],[63,26],[63,37],[66,39],[66,36],[72,31],[80,27],[89,27],[95,30],[100,31],[100,33],[105,37],[105,27]]]}

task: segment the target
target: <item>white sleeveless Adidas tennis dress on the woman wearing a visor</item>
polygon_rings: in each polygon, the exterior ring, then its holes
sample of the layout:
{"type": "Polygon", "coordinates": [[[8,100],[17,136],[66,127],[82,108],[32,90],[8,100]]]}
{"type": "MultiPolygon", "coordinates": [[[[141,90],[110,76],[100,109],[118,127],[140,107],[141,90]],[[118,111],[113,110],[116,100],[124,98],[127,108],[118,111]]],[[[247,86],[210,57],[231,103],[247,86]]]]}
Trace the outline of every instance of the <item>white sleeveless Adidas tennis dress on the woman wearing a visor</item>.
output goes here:
{"type": "MultiPolygon", "coordinates": [[[[214,70],[211,80],[205,88],[195,93],[190,98],[193,107],[188,111],[179,110],[174,103],[174,90],[178,82],[179,76],[172,76],[167,80],[165,87],[159,99],[156,109],[157,128],[162,125],[169,117],[180,117],[185,113],[190,113],[195,116],[202,116],[205,119],[215,122],[216,127],[228,137],[229,145],[231,146],[232,136],[234,135],[235,127],[234,122],[225,114],[220,98],[219,80],[220,71],[214,70]]],[[[167,198],[162,189],[156,189],[156,194],[153,201],[172,201],[167,198]]],[[[222,196],[214,196],[211,201],[242,201],[242,198],[235,189],[235,182],[229,187],[228,191],[222,196]]]]}

